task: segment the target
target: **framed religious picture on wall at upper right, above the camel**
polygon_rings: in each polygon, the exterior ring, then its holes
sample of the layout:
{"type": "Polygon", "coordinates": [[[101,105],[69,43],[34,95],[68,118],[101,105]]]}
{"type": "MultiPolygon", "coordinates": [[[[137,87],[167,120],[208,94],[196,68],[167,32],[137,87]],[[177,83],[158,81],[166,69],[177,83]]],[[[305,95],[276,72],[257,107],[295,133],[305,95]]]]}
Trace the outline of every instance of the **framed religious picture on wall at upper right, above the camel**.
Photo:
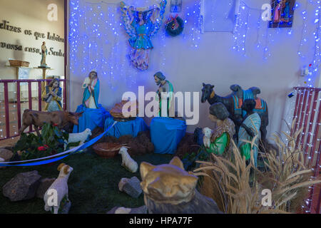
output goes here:
{"type": "Polygon", "coordinates": [[[295,0],[272,0],[270,28],[290,28],[293,24],[295,0]]]}

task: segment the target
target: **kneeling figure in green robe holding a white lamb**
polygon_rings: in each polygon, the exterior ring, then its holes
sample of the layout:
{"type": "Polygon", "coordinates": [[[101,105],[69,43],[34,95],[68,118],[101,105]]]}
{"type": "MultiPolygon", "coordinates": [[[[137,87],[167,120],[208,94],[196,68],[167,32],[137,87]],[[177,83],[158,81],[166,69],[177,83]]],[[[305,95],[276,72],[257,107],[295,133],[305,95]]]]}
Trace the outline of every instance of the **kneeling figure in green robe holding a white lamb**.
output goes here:
{"type": "Polygon", "coordinates": [[[204,128],[203,145],[208,153],[222,155],[230,158],[232,150],[232,140],[235,134],[235,125],[228,116],[230,113],[223,103],[214,103],[210,106],[210,120],[214,123],[213,133],[209,133],[209,128],[204,128]]]}

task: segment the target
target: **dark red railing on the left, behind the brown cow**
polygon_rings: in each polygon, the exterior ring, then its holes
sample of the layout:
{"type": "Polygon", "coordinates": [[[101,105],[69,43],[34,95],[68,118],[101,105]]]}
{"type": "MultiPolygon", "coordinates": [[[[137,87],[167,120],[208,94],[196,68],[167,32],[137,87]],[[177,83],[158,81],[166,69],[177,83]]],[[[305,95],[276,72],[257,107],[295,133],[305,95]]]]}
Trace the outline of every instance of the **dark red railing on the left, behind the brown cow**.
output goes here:
{"type": "MultiPolygon", "coordinates": [[[[4,115],[1,114],[0,117],[0,131],[3,134],[0,134],[0,141],[6,140],[9,138],[14,138],[16,136],[19,136],[19,129],[21,128],[21,115],[24,113],[24,109],[30,109],[33,110],[34,103],[33,101],[36,101],[37,108],[36,110],[42,110],[43,101],[41,100],[41,94],[42,89],[44,88],[45,83],[50,83],[52,79],[39,79],[39,80],[0,80],[0,108],[4,109],[4,115]],[[24,83],[27,86],[26,90],[21,90],[21,83],[24,83]],[[36,83],[36,91],[37,95],[33,97],[32,95],[32,84],[36,83]],[[14,99],[10,99],[9,95],[9,86],[14,84],[13,88],[14,90],[11,91],[13,94],[11,97],[14,97],[14,99]],[[2,90],[3,88],[3,90],[2,90]],[[24,100],[21,98],[21,92],[26,92],[28,96],[26,96],[28,99],[24,100]],[[36,100],[34,100],[36,98],[36,100]],[[27,105],[24,105],[24,108],[21,108],[21,104],[24,103],[27,105]],[[14,111],[10,111],[11,109],[14,109],[14,111]],[[11,118],[14,118],[14,121],[10,121],[11,118]],[[14,122],[14,123],[12,123],[14,122]],[[1,125],[2,123],[2,125],[1,125]],[[5,124],[5,129],[1,128],[3,126],[3,123],[5,124]],[[14,125],[16,124],[16,125],[14,125]],[[14,128],[13,128],[14,127],[14,128]],[[15,130],[13,130],[15,129],[15,130]]],[[[63,100],[61,101],[63,104],[63,109],[66,110],[66,79],[60,79],[60,86],[63,88],[63,100]]],[[[12,86],[11,86],[12,87],[12,86]]],[[[29,133],[32,132],[32,128],[29,128],[29,133]]]]}

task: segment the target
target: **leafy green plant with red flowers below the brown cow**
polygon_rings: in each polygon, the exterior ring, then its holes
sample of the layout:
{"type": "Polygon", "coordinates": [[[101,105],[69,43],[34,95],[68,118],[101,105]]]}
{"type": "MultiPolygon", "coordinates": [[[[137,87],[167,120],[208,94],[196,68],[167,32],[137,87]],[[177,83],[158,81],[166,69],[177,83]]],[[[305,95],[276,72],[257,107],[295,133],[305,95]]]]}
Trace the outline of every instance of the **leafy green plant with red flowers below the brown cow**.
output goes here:
{"type": "MultiPolygon", "coordinates": [[[[64,151],[64,145],[68,142],[68,137],[68,133],[61,132],[56,126],[45,123],[40,137],[32,133],[29,135],[21,133],[19,141],[14,146],[14,152],[22,152],[21,160],[54,155],[64,151]]],[[[67,150],[68,147],[67,145],[67,150]]]]}

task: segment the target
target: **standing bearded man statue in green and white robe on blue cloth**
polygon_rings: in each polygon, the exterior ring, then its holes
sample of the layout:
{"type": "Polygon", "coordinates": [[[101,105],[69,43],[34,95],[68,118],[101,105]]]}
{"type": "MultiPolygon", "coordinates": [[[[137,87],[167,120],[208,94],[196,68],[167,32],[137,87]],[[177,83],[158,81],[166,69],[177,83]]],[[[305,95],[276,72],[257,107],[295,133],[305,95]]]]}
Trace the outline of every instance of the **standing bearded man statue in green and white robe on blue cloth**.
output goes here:
{"type": "Polygon", "coordinates": [[[175,115],[173,110],[173,85],[168,80],[166,80],[165,76],[161,72],[157,72],[154,75],[154,78],[156,85],[159,86],[156,92],[156,100],[159,101],[158,114],[162,117],[173,117],[175,115]],[[165,107],[163,107],[162,105],[165,105],[165,107]]]}

